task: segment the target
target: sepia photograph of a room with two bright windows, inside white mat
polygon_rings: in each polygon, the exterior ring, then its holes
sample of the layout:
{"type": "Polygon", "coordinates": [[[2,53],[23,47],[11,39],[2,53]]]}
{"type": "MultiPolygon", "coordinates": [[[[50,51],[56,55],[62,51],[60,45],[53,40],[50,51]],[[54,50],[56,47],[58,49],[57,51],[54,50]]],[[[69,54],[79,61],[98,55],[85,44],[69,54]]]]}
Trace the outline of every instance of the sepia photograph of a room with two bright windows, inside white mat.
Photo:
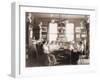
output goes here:
{"type": "Polygon", "coordinates": [[[89,65],[89,20],[89,15],[26,12],[26,67],[89,65]]]}

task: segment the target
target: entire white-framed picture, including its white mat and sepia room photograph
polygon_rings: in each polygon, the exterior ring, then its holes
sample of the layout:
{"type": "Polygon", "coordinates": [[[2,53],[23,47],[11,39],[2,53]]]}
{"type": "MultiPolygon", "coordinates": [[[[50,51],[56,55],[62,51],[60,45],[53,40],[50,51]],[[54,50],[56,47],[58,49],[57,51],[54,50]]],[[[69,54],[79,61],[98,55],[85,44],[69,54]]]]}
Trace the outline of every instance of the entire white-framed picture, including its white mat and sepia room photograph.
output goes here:
{"type": "Polygon", "coordinates": [[[12,3],[12,76],[94,71],[93,31],[95,9],[12,3]],[[75,32],[80,32],[77,27],[80,22],[87,30],[82,35],[87,35],[86,47],[82,40],[75,40],[80,38],[80,35],[75,36],[75,32]],[[64,30],[61,34],[57,30],[59,25],[64,30]]]}

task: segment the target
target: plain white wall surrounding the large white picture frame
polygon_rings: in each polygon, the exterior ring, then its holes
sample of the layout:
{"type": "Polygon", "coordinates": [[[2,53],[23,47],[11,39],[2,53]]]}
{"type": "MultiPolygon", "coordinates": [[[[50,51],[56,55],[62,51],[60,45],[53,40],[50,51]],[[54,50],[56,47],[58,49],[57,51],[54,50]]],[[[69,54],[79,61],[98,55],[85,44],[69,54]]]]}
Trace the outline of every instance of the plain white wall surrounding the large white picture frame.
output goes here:
{"type": "MultiPolygon", "coordinates": [[[[11,70],[11,2],[22,0],[1,0],[0,2],[0,80],[14,80],[10,77],[11,70]]],[[[100,0],[24,0],[25,2],[33,2],[34,5],[46,6],[84,6],[95,7],[96,13],[96,26],[95,26],[95,53],[97,72],[79,73],[77,74],[63,74],[54,76],[41,76],[41,77],[27,77],[18,78],[17,80],[99,80],[100,74],[100,0]]]]}

